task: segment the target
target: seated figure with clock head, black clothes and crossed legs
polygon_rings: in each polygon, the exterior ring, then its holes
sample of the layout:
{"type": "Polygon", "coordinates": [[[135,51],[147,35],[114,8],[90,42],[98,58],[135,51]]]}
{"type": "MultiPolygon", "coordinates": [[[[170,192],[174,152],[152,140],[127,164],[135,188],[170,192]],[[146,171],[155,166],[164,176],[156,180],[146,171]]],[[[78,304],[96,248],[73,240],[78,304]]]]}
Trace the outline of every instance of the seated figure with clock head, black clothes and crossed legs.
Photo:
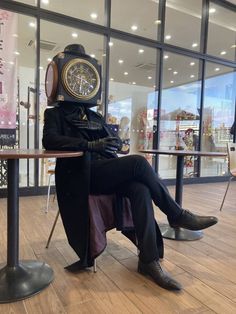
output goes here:
{"type": "Polygon", "coordinates": [[[116,193],[130,201],[138,271],[165,289],[180,290],[181,285],[160,265],[163,240],[152,201],[172,227],[200,230],[214,225],[217,218],[182,209],[143,156],[117,156],[120,138],[102,115],[90,109],[101,97],[101,66],[83,46],[69,45],[57,54],[48,65],[45,84],[52,108],[45,110],[43,146],[84,153],[59,158],[55,173],[59,210],[80,269],[93,265],[88,248],[88,195],[116,193]]]}

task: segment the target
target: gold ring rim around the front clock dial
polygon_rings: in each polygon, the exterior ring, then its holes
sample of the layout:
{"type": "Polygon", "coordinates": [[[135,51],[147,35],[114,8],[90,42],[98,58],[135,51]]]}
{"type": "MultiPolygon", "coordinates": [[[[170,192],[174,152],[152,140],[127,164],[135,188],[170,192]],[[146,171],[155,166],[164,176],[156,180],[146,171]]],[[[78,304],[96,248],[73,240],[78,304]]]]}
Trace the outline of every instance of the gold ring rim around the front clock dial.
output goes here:
{"type": "Polygon", "coordinates": [[[99,76],[99,73],[96,69],[96,67],[91,63],[89,62],[88,60],[85,60],[85,59],[82,59],[82,58],[75,58],[75,59],[72,59],[70,61],[68,61],[63,69],[62,69],[62,83],[64,85],[64,88],[66,89],[66,91],[73,97],[79,99],[79,100],[90,100],[91,98],[93,98],[97,92],[99,91],[99,88],[100,88],[100,76],[99,76]],[[87,96],[84,96],[84,95],[78,95],[76,94],[75,92],[73,92],[67,82],[67,72],[69,70],[69,68],[73,65],[75,65],[76,63],[85,63],[87,64],[90,68],[92,68],[92,70],[94,71],[95,75],[96,75],[96,78],[97,78],[97,85],[95,87],[95,89],[91,92],[91,94],[87,95],[87,96]]]}

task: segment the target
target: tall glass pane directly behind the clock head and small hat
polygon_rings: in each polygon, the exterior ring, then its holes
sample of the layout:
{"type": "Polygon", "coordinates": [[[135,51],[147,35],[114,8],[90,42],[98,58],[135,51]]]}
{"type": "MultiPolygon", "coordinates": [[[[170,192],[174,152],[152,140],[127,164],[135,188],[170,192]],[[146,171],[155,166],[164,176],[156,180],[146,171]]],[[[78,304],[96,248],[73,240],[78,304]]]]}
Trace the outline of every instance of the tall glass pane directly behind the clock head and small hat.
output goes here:
{"type": "MultiPolygon", "coordinates": [[[[69,44],[81,44],[84,46],[88,55],[96,58],[105,68],[106,55],[104,52],[104,37],[82,31],[80,29],[62,26],[56,23],[41,21],[40,29],[40,128],[39,144],[42,147],[42,130],[44,110],[47,107],[47,98],[45,94],[45,74],[48,63],[58,53],[64,50],[69,44]],[[73,36],[78,34],[78,38],[73,36]]],[[[43,161],[42,161],[43,162],[43,161]]],[[[47,163],[41,165],[40,184],[47,184],[47,163]]]]}

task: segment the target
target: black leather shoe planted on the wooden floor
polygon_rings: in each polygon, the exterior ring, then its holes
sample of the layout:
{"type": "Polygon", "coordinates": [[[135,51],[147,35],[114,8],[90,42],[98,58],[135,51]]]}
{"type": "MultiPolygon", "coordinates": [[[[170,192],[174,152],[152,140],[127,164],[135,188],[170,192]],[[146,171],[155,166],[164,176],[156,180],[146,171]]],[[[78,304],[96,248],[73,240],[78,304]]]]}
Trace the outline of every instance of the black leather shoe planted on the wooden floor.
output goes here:
{"type": "Polygon", "coordinates": [[[143,263],[139,260],[138,272],[142,275],[149,275],[162,288],[167,290],[181,290],[181,285],[165,272],[158,261],[143,263]]]}

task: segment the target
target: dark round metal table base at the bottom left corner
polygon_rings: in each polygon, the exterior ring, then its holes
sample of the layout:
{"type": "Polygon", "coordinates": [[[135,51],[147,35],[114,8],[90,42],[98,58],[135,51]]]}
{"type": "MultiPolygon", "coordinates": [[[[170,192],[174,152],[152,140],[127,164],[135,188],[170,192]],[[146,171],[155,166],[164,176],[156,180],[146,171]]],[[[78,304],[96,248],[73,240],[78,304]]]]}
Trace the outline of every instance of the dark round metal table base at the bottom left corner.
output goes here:
{"type": "Polygon", "coordinates": [[[40,261],[20,261],[18,266],[0,269],[0,303],[14,302],[30,297],[53,280],[53,270],[40,261]]]}

